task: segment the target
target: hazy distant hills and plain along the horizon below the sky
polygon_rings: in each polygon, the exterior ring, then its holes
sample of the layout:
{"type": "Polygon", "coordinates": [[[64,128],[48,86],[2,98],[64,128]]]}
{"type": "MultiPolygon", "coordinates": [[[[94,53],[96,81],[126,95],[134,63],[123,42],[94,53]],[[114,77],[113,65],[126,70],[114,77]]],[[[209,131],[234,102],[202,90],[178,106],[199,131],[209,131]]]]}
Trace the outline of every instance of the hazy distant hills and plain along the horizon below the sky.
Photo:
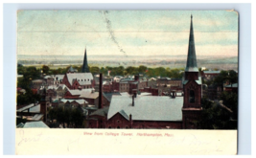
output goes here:
{"type": "MultiPolygon", "coordinates": [[[[187,56],[87,56],[93,66],[139,66],[182,68],[187,56]]],[[[81,65],[83,56],[17,56],[21,64],[81,65]]],[[[197,56],[198,67],[237,69],[238,56],[197,56]]]]}

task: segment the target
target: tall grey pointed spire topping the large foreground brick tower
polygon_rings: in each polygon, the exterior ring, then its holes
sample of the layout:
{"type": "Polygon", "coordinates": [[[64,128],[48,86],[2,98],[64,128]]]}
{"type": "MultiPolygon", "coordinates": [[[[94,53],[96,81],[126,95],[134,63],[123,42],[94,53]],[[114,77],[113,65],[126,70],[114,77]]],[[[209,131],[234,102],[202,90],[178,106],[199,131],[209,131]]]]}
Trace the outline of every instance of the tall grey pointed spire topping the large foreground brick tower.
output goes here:
{"type": "Polygon", "coordinates": [[[186,65],[186,72],[198,72],[198,63],[195,49],[194,31],[193,31],[193,15],[191,14],[190,34],[189,34],[189,48],[186,65]]]}

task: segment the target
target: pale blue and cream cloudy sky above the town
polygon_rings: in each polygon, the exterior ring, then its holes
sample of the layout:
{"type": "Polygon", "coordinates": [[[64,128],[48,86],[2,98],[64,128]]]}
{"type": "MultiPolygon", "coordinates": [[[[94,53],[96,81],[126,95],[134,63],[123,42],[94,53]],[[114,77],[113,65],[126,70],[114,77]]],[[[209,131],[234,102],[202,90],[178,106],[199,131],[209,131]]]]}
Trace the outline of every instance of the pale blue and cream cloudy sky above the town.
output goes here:
{"type": "Polygon", "coordinates": [[[236,11],[18,11],[17,55],[238,56],[236,11]]]}

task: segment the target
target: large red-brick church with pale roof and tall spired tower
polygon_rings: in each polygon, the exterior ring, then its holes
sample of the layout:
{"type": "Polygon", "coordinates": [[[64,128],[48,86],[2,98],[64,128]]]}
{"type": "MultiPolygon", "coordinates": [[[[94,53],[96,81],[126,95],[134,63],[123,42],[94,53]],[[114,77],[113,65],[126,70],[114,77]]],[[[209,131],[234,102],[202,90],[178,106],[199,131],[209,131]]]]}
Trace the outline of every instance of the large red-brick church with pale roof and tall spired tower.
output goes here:
{"type": "Polygon", "coordinates": [[[192,15],[182,84],[182,96],[177,96],[175,90],[171,96],[144,96],[136,91],[133,95],[112,96],[108,107],[99,104],[100,108],[90,114],[89,128],[197,128],[202,92],[192,15]]]}

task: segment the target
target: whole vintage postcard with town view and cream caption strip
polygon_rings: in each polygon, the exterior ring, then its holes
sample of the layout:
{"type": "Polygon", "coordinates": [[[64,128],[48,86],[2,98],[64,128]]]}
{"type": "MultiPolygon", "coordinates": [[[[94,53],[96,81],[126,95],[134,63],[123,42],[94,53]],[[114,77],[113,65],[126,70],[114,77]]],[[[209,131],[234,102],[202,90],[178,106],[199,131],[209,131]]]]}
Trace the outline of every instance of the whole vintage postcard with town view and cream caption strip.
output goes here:
{"type": "Polygon", "coordinates": [[[17,11],[16,154],[236,154],[238,16],[17,11]]]}

